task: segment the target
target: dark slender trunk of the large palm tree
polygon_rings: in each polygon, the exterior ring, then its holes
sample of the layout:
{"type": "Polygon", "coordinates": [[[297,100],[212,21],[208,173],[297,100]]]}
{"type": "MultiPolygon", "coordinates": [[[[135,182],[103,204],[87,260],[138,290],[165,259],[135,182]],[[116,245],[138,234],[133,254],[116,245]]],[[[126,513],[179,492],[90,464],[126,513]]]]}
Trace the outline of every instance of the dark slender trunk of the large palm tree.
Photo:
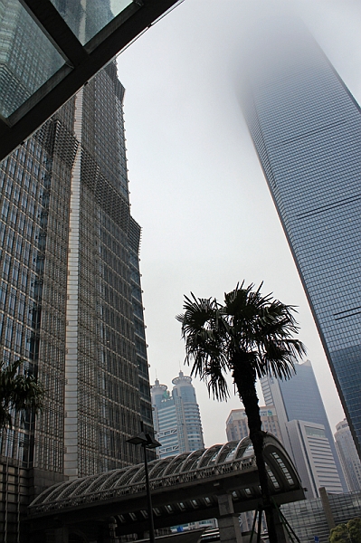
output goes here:
{"type": "Polygon", "coordinates": [[[242,360],[241,363],[233,365],[233,379],[248,418],[248,428],[256,457],[261,486],[262,507],[266,515],[270,543],[278,543],[275,519],[276,511],[271,502],[271,492],[263,457],[263,432],[261,430],[260,407],[256,392],[256,374],[253,367],[242,360]]]}

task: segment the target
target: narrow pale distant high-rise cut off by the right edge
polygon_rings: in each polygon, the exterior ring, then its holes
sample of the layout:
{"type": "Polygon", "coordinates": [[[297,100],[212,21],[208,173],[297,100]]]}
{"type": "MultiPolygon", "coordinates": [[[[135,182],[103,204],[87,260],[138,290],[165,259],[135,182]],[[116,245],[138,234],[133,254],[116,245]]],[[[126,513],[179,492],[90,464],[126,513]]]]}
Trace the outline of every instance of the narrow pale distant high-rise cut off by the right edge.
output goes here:
{"type": "Polygon", "coordinates": [[[349,490],[361,491],[361,462],[346,419],[337,424],[335,441],[349,490]]]}

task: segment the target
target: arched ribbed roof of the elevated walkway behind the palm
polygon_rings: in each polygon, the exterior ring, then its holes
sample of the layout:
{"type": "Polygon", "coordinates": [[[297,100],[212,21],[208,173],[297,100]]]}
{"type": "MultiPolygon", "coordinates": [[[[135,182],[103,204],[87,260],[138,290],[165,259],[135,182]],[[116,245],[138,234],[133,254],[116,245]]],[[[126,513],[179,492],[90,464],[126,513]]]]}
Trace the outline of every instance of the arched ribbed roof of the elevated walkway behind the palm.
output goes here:
{"type": "MultiPolygon", "coordinates": [[[[279,503],[304,499],[290,457],[271,434],[265,436],[264,457],[275,499],[279,503]]],[[[239,510],[252,510],[253,504],[247,502],[261,496],[249,438],[158,459],[149,462],[148,467],[156,517],[185,515],[186,510],[212,510],[217,504],[216,495],[225,491],[239,502],[239,510]]],[[[104,504],[110,514],[114,504],[114,511],[122,511],[120,521],[127,523],[147,517],[145,495],[144,465],[138,464],[52,486],[33,501],[29,513],[34,518],[70,509],[78,510],[79,517],[81,508],[92,508],[90,514],[94,515],[97,504],[104,504]]]]}

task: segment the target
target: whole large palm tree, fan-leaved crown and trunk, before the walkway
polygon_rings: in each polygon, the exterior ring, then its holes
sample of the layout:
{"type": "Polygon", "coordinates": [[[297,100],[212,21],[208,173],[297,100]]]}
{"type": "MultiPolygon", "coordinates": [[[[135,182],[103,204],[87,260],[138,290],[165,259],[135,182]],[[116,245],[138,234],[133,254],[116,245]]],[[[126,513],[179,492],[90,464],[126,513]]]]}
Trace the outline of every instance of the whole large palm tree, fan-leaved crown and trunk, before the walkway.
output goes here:
{"type": "Polygon", "coordinates": [[[294,358],[305,354],[305,347],[293,338],[299,330],[293,317],[295,309],[273,300],[271,294],[262,296],[262,285],[256,291],[253,284],[243,285],[244,281],[224,294],[224,305],[213,298],[197,299],[193,293],[191,298],[185,296],[185,313],[176,319],[182,323],[185,362],[193,364],[191,375],[207,383],[209,395],[227,399],[225,375],[233,376],[248,417],[270,543],[277,543],[255,385],[257,378],[266,375],[290,378],[294,358]]]}

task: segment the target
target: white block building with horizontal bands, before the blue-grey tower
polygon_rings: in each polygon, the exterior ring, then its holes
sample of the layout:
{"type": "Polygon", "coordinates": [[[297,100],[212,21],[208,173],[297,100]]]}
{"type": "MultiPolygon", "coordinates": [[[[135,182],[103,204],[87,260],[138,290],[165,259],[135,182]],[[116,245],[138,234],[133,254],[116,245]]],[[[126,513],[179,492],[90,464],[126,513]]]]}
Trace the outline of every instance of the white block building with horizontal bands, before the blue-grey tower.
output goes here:
{"type": "Polygon", "coordinates": [[[323,424],[291,420],[287,425],[292,456],[306,497],[318,498],[318,489],[341,493],[343,491],[334,455],[323,424]]]}

